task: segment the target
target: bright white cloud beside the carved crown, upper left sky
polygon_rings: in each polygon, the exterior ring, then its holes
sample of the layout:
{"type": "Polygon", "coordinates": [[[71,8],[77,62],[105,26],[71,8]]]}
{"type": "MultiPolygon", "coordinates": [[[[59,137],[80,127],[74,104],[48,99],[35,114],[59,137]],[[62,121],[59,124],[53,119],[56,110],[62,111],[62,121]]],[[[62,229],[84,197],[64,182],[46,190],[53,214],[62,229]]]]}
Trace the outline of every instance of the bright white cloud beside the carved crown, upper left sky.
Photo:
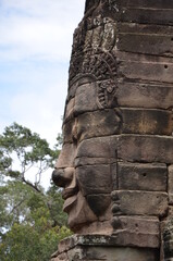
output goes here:
{"type": "Polygon", "coordinates": [[[0,58],[12,61],[28,58],[41,60],[67,60],[71,52],[72,28],[61,27],[39,20],[23,18],[0,26],[0,58]]]}

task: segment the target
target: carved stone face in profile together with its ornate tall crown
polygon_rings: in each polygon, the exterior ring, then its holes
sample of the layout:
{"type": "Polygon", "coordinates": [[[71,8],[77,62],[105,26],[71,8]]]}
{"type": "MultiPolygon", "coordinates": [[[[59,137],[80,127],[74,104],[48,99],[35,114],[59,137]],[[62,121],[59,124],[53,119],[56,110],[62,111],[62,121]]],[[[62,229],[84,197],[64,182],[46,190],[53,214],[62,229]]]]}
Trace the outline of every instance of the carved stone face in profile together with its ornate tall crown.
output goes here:
{"type": "Polygon", "coordinates": [[[120,133],[122,123],[116,102],[116,61],[111,53],[114,24],[100,15],[97,21],[98,24],[88,16],[74,34],[63,120],[64,144],[52,175],[53,182],[64,188],[63,209],[76,233],[85,224],[85,233],[88,224],[97,224],[94,233],[100,232],[98,224],[108,221],[110,224],[116,167],[111,136],[120,133]],[[98,25],[104,32],[101,37],[98,25]],[[85,26],[92,30],[85,32],[85,26]]]}

